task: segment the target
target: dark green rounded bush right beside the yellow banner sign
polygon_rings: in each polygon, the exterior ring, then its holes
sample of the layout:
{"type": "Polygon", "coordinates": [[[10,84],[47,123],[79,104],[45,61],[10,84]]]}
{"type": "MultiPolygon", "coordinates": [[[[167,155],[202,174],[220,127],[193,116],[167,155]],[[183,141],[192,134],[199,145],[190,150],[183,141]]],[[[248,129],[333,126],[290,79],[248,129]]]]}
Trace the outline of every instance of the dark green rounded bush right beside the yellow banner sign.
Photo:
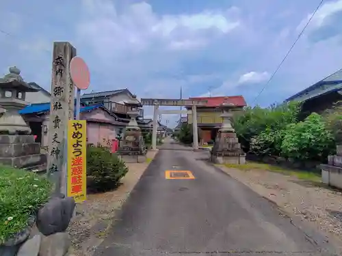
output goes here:
{"type": "Polygon", "coordinates": [[[90,177],[88,188],[106,191],[116,188],[128,169],[118,156],[105,147],[88,147],[87,176],[90,177]]]}

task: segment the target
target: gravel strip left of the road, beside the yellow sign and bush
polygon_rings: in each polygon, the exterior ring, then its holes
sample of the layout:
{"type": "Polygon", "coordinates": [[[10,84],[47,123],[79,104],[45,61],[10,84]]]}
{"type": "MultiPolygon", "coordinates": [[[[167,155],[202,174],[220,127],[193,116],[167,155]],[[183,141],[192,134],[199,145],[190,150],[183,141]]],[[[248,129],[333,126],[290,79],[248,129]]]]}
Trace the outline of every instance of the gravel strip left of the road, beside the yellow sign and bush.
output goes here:
{"type": "Polygon", "coordinates": [[[156,154],[149,151],[146,162],[127,163],[129,171],[116,190],[90,194],[87,201],[76,205],[76,216],[68,227],[72,238],[71,255],[90,256],[94,253],[95,248],[105,239],[109,227],[118,221],[116,213],[156,154]]]}

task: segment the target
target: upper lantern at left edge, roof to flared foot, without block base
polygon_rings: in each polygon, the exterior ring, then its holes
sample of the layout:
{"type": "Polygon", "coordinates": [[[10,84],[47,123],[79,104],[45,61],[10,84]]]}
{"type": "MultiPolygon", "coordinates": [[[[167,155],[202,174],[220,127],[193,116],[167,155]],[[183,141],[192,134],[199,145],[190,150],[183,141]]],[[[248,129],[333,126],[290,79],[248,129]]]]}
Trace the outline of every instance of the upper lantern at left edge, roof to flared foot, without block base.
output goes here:
{"type": "Polygon", "coordinates": [[[10,68],[10,74],[0,79],[0,106],[4,109],[0,117],[0,134],[30,134],[31,129],[26,124],[19,110],[27,106],[25,94],[38,91],[26,83],[16,67],[10,68]]]}

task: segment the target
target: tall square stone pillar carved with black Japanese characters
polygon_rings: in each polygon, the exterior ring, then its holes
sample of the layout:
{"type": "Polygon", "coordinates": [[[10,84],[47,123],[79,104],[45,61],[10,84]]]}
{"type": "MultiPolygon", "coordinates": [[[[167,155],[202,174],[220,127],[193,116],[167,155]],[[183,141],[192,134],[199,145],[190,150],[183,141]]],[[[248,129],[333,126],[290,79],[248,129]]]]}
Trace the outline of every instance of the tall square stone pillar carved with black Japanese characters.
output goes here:
{"type": "Polygon", "coordinates": [[[74,119],[75,89],[70,76],[70,61],[76,49],[68,42],[53,43],[51,106],[48,130],[47,175],[56,184],[56,192],[66,195],[66,130],[74,119]]]}

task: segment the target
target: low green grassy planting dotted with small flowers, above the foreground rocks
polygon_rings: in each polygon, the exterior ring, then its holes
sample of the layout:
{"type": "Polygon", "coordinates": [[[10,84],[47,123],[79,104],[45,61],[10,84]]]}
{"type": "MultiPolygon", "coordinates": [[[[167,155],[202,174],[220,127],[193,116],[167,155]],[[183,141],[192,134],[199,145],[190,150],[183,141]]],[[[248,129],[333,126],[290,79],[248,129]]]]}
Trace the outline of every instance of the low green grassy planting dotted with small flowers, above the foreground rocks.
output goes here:
{"type": "Polygon", "coordinates": [[[0,165],[0,244],[27,227],[29,216],[47,202],[50,193],[46,178],[0,165]]]}

